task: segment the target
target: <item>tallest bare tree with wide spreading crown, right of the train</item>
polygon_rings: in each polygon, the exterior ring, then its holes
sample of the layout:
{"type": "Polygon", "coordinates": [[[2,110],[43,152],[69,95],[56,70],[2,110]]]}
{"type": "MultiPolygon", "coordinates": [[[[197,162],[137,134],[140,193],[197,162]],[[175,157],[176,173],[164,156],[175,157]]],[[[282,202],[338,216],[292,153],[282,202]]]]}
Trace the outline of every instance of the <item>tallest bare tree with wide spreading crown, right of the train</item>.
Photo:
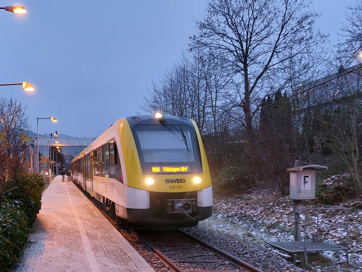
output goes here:
{"type": "MultiPolygon", "coordinates": [[[[289,60],[314,51],[325,37],[313,29],[318,14],[308,0],[209,0],[207,15],[197,22],[193,48],[209,48],[240,82],[231,107],[243,110],[248,132],[253,130],[252,107],[269,85],[283,85],[278,75],[289,60]],[[269,84],[266,84],[269,82],[269,84]],[[270,84],[273,82],[273,84],[270,84]],[[260,94],[258,94],[260,92],[260,94]]],[[[279,88],[276,86],[276,89],[279,88]]],[[[275,92],[275,89],[274,89],[275,92]]]]}

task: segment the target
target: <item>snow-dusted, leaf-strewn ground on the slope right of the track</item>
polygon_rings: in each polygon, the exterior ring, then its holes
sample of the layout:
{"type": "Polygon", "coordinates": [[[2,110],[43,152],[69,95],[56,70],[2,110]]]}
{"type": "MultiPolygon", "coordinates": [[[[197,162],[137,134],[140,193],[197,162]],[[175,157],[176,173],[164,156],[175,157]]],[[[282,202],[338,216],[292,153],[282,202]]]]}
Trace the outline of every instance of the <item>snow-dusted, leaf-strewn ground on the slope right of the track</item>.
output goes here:
{"type": "MultiPolygon", "coordinates": [[[[331,177],[332,180],[333,177],[331,177]]],[[[328,182],[328,181],[327,181],[328,182]]],[[[239,196],[214,197],[213,216],[199,223],[199,226],[214,233],[225,235],[234,241],[265,245],[266,241],[293,241],[294,217],[293,201],[289,196],[280,197],[268,190],[255,191],[239,196]],[[249,235],[248,235],[249,234],[249,235]]],[[[311,201],[304,201],[305,207],[315,207],[311,201]]],[[[362,272],[362,200],[355,199],[341,203],[349,211],[349,260],[352,267],[346,267],[344,251],[321,252],[328,264],[312,264],[313,271],[358,271],[362,272]],[[328,259],[327,259],[328,258],[328,259]]],[[[321,215],[320,215],[321,216],[321,215]]],[[[304,215],[302,217],[302,232],[304,215]]],[[[325,214],[331,224],[344,224],[346,215],[343,211],[329,211],[325,214]]],[[[316,216],[310,214],[308,224],[313,224],[316,216]]],[[[309,239],[315,238],[310,232],[309,239]]],[[[343,229],[323,230],[320,238],[325,242],[345,246],[346,233],[343,229]]],[[[302,233],[303,239],[303,233],[302,233]]]]}

